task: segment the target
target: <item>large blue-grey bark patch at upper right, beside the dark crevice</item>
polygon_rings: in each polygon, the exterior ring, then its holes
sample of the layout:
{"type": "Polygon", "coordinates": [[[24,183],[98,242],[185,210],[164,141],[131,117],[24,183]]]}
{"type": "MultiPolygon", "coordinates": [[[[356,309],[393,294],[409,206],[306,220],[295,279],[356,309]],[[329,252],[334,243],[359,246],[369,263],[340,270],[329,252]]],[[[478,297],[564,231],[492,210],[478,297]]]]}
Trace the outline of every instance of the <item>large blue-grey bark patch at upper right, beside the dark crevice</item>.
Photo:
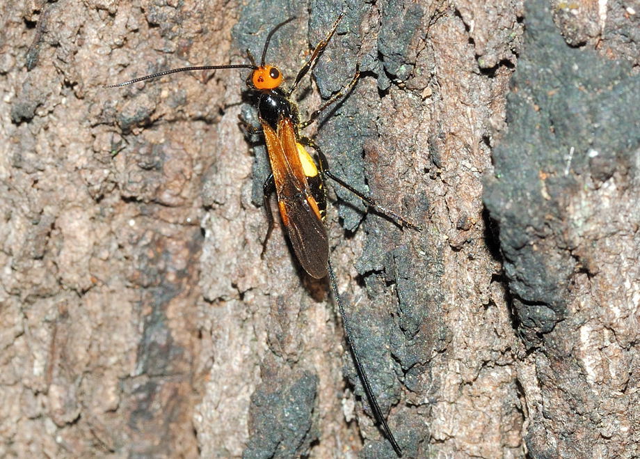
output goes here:
{"type": "Polygon", "coordinates": [[[549,332],[566,316],[577,265],[563,238],[568,196],[589,174],[602,182],[637,154],[640,84],[629,65],[569,47],[542,3],[527,8],[525,24],[509,132],[494,150],[484,201],[499,222],[521,331],[533,344],[529,332],[549,332]]]}

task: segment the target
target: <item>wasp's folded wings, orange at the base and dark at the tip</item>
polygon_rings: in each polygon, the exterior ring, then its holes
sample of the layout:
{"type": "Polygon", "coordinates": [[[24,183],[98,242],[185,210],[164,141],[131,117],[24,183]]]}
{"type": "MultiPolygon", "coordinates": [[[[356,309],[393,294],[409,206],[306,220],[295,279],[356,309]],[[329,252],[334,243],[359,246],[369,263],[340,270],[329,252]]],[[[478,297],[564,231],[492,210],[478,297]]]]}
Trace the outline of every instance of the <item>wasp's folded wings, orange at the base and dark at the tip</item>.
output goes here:
{"type": "Polygon", "coordinates": [[[327,275],[329,242],[300,161],[294,125],[291,119],[282,118],[277,132],[267,123],[262,128],[278,194],[278,208],[291,246],[307,274],[322,279],[327,275]]]}

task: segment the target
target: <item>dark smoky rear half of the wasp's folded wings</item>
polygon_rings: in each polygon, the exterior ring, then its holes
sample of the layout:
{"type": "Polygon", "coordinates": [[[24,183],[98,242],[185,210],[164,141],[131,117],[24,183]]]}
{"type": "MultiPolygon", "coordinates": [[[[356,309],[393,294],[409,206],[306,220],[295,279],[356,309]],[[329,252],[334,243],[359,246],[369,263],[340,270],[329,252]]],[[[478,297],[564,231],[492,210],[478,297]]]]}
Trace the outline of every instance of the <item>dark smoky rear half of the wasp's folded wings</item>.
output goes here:
{"type": "Polygon", "coordinates": [[[283,221],[298,261],[307,274],[322,279],[327,275],[329,259],[329,241],[323,222],[304,196],[300,199],[282,199],[280,202],[287,212],[287,218],[283,221]]]}

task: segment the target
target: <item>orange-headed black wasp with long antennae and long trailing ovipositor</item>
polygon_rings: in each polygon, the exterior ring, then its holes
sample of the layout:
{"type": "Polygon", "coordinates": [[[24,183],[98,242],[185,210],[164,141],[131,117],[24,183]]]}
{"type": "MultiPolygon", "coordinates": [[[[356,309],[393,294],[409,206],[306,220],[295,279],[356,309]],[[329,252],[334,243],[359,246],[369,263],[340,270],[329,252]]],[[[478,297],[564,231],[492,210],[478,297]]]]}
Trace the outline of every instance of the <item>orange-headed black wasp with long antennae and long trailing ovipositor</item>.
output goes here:
{"type": "Polygon", "coordinates": [[[241,122],[251,133],[262,134],[264,137],[264,143],[266,144],[266,150],[269,155],[269,162],[271,164],[271,174],[263,185],[264,207],[266,208],[267,217],[269,219],[269,228],[267,229],[266,236],[262,243],[261,256],[264,256],[266,244],[269,241],[271,232],[273,231],[274,221],[273,212],[271,211],[271,195],[275,192],[278,198],[280,218],[282,219],[282,224],[286,228],[287,236],[289,237],[291,247],[294,249],[298,262],[305,272],[314,279],[323,279],[327,276],[329,277],[333,295],[342,318],[346,343],[349,345],[349,350],[353,357],[353,363],[360,381],[362,382],[362,387],[365,389],[365,394],[367,394],[371,411],[395,453],[397,453],[398,456],[401,456],[401,448],[394,438],[391,429],[387,425],[387,421],[383,416],[374,391],[371,388],[371,384],[367,377],[367,373],[365,372],[365,366],[362,364],[362,359],[360,358],[358,349],[350,338],[350,336],[353,336],[353,333],[351,332],[351,325],[349,323],[349,318],[345,313],[344,302],[342,301],[342,297],[339,295],[335,272],[331,265],[329,256],[329,242],[324,223],[327,208],[326,187],[324,186],[325,180],[326,178],[330,178],[338,185],[348,189],[350,192],[358,196],[370,208],[373,208],[376,212],[381,213],[390,219],[394,219],[394,221],[397,221],[397,223],[402,227],[412,228],[416,231],[422,231],[422,227],[411,223],[399,215],[398,212],[379,205],[374,201],[374,199],[371,199],[371,197],[362,194],[344,180],[335,176],[335,174],[330,171],[328,161],[321,148],[313,141],[313,139],[301,134],[301,130],[303,130],[303,128],[313,123],[314,120],[317,120],[323,111],[332,104],[335,104],[335,102],[351,91],[360,77],[360,73],[358,71],[355,72],[351,82],[346,85],[342,91],[339,91],[329,100],[324,102],[321,107],[314,111],[310,115],[309,119],[304,122],[300,121],[298,107],[291,100],[291,94],[294,93],[300,81],[313,67],[319,55],[323,52],[323,49],[328,45],[328,42],[331,37],[333,37],[342,17],[344,17],[344,12],[337,17],[325,38],[318,43],[309,59],[303,65],[301,70],[298,71],[298,75],[296,75],[296,79],[293,84],[291,84],[291,86],[286,90],[282,87],[282,72],[280,72],[278,67],[275,65],[270,65],[265,62],[266,51],[269,48],[269,42],[271,41],[273,34],[282,26],[285,26],[285,24],[296,19],[295,17],[291,17],[288,20],[281,22],[269,32],[264,43],[262,58],[260,59],[259,64],[247,49],[247,55],[250,61],[248,64],[198,65],[175,68],[103,87],[116,88],[120,86],[127,86],[129,84],[137,83],[138,81],[163,77],[177,72],[236,68],[246,68],[251,70],[251,73],[246,80],[246,84],[250,90],[256,91],[258,95],[257,112],[260,127],[252,127],[242,119],[241,122]],[[307,147],[313,148],[316,155],[312,157],[312,155],[307,151],[307,147]]]}

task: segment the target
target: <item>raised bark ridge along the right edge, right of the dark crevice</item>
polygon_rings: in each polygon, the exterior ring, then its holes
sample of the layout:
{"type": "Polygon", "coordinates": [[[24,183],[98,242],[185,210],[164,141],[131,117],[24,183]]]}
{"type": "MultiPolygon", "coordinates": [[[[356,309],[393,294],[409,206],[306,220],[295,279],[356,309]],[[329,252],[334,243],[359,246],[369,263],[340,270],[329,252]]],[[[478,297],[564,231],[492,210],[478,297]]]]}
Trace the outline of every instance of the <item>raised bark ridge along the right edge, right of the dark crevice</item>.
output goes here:
{"type": "Polygon", "coordinates": [[[638,43],[613,33],[597,53],[568,46],[554,25],[572,45],[608,36],[621,6],[595,6],[527,5],[485,194],[526,350],[515,368],[532,457],[640,453],[638,43]]]}

